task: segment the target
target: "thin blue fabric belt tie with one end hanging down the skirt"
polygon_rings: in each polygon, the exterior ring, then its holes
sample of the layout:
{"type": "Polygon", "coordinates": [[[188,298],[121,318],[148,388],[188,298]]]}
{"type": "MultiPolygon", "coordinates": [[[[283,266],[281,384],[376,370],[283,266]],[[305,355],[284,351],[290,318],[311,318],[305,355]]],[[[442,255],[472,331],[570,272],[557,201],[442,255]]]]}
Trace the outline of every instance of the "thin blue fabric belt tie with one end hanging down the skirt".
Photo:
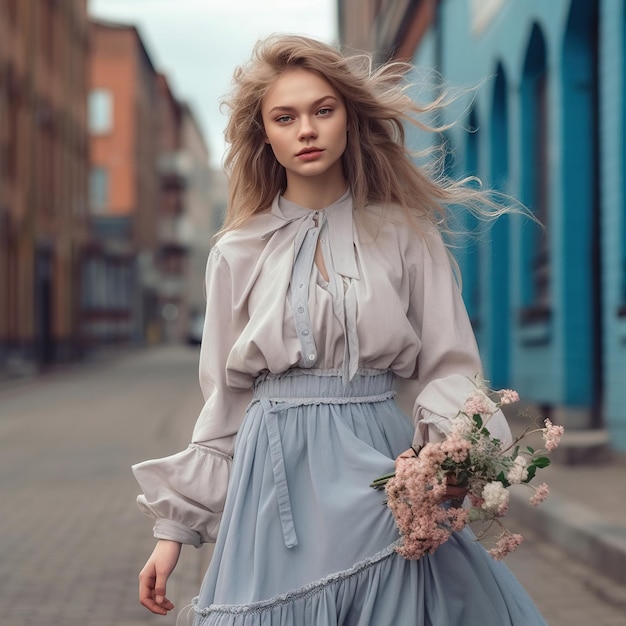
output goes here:
{"type": "Polygon", "coordinates": [[[282,527],[283,539],[287,548],[294,548],[298,545],[296,527],[293,521],[291,510],[291,499],[289,498],[289,486],[287,484],[287,472],[285,471],[285,458],[283,456],[283,445],[278,428],[278,414],[288,409],[309,404],[351,404],[384,402],[395,396],[395,391],[386,391],[372,396],[344,397],[344,398],[298,398],[290,401],[288,398],[270,399],[266,396],[258,398],[258,402],[263,408],[263,420],[267,430],[269,442],[270,460],[272,463],[272,473],[274,475],[274,486],[276,488],[276,503],[278,505],[278,516],[282,527]],[[272,404],[274,402],[274,404],[272,404]]]}

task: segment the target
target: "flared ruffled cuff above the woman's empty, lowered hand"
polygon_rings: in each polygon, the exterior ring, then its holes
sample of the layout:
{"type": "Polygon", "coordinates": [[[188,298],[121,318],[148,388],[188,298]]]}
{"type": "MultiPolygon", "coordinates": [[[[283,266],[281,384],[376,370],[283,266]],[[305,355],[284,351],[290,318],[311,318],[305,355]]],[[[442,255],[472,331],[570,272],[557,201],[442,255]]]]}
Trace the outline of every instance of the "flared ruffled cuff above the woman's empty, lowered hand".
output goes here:
{"type": "Polygon", "coordinates": [[[232,458],[191,444],[186,450],[133,465],[141,511],[156,518],[154,536],[199,546],[212,543],[222,519],[232,458]]]}

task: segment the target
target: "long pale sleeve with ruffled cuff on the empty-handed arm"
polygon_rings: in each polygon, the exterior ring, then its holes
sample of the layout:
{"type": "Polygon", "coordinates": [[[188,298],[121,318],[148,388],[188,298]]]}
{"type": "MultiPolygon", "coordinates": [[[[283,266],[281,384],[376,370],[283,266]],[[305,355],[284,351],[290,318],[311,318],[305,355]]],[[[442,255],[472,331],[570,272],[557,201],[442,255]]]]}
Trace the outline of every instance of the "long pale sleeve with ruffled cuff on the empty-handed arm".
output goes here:
{"type": "Polygon", "coordinates": [[[246,323],[246,313],[233,306],[230,270],[217,246],[209,255],[206,290],[200,349],[205,404],[191,443],[182,452],[132,468],[143,489],[137,498],[139,508],[156,519],[154,536],[196,547],[217,537],[234,440],[251,399],[250,388],[229,389],[226,382],[228,355],[246,323]]]}

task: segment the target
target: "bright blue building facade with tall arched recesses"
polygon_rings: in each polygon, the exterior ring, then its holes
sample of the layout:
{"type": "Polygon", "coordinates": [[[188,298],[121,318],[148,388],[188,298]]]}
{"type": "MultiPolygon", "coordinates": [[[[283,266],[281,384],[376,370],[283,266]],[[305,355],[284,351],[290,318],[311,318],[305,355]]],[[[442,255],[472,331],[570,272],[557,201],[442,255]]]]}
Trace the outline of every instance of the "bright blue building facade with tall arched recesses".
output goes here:
{"type": "Polygon", "coordinates": [[[487,377],[626,452],[626,0],[442,0],[413,63],[490,77],[446,113],[453,174],[544,225],[510,214],[457,248],[487,377]]]}

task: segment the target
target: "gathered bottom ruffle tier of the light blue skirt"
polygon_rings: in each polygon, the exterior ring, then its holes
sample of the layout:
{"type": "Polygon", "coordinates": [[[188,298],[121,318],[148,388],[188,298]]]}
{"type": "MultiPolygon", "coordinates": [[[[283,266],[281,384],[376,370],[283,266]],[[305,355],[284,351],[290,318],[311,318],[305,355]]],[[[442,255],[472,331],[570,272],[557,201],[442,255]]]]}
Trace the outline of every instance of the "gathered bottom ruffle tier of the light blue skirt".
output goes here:
{"type": "Polygon", "coordinates": [[[469,531],[453,536],[436,557],[407,561],[392,545],[269,600],[202,609],[196,598],[194,611],[196,626],[546,624],[508,568],[491,560],[469,531]]]}

